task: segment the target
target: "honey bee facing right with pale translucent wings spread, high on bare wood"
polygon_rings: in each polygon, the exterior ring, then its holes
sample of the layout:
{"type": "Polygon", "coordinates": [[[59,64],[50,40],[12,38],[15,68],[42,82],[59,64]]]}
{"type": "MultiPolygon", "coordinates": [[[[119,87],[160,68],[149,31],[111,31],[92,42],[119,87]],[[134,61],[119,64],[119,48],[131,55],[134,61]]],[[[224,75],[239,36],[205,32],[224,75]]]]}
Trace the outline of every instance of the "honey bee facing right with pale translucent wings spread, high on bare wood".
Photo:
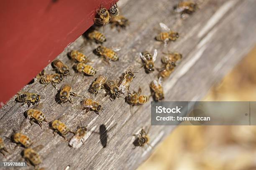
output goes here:
{"type": "Polygon", "coordinates": [[[170,28],[168,28],[164,23],[159,23],[159,25],[166,32],[160,32],[158,35],[156,35],[156,40],[163,41],[164,46],[167,45],[168,41],[175,41],[179,38],[178,32],[171,31],[170,28]]]}

